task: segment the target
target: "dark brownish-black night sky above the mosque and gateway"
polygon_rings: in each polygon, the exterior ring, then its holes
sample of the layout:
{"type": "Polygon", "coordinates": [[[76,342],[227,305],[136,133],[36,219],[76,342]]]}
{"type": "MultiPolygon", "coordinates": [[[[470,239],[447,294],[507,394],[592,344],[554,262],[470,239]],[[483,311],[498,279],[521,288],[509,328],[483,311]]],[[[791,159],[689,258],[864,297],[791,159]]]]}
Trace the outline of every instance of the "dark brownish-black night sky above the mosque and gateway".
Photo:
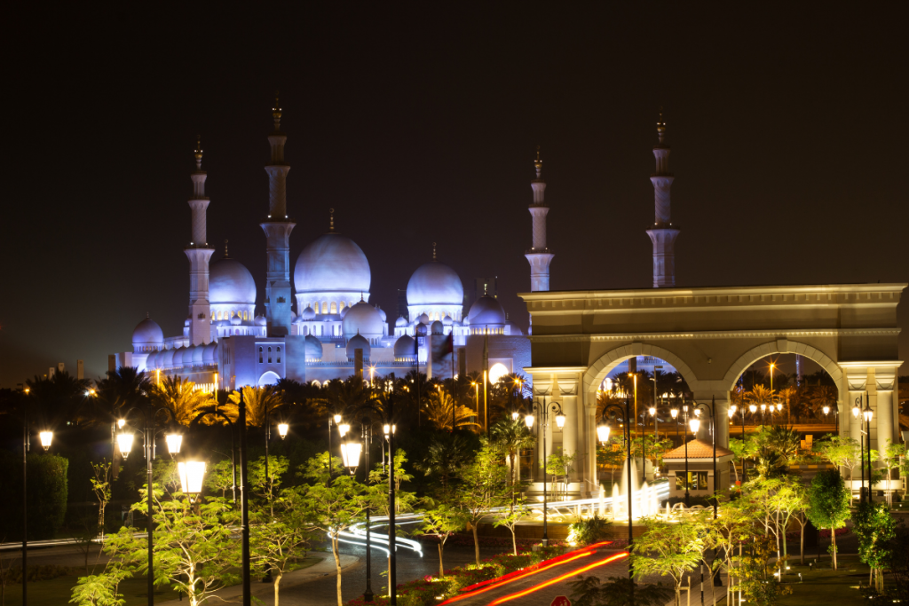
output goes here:
{"type": "Polygon", "coordinates": [[[537,144],[553,290],[648,287],[661,105],[679,285],[909,279],[905,3],[111,6],[5,17],[0,386],[179,333],[196,134],[261,313],[275,89],[292,263],[334,207],[389,311],[437,242],[526,323],[537,144]]]}

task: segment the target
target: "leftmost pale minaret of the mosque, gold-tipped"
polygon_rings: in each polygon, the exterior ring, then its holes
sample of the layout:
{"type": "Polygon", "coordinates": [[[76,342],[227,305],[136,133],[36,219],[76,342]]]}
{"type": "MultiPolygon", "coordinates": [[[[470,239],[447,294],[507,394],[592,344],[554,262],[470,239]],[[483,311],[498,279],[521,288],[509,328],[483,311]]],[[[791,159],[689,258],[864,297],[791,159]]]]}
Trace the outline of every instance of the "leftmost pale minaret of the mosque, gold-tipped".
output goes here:
{"type": "Polygon", "coordinates": [[[202,138],[195,144],[195,172],[193,179],[193,198],[189,207],[193,210],[193,240],[185,247],[189,257],[189,340],[194,344],[208,343],[212,340],[211,311],[208,306],[208,260],[215,249],[208,247],[205,236],[205,209],[208,198],[205,196],[205,171],[202,170],[202,138]]]}

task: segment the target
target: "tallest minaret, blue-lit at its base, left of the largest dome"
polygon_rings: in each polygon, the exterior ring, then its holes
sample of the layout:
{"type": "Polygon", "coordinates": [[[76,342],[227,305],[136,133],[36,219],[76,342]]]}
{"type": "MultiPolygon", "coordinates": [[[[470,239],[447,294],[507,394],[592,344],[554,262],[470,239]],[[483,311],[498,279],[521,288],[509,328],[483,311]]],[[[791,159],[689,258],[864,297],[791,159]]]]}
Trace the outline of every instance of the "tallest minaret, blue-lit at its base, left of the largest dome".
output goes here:
{"type": "Polygon", "coordinates": [[[287,172],[284,146],[287,136],[281,132],[281,106],[275,96],[272,108],[275,130],[268,135],[272,147],[271,164],[265,166],[268,173],[268,218],[261,224],[265,231],[265,255],[268,265],[265,271],[265,319],[268,336],[280,337],[290,334],[291,289],[290,289],[290,233],[295,223],[287,218],[287,172]]]}

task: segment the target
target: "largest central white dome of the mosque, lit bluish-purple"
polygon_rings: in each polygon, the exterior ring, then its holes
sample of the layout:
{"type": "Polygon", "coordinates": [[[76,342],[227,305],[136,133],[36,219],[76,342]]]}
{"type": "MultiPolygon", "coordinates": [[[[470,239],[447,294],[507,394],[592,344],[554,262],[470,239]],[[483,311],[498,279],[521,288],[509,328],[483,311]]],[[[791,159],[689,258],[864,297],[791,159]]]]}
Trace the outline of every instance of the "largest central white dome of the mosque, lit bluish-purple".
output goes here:
{"type": "Polygon", "coordinates": [[[297,257],[297,293],[368,293],[371,273],[363,250],[340,233],[325,233],[297,257]]]}

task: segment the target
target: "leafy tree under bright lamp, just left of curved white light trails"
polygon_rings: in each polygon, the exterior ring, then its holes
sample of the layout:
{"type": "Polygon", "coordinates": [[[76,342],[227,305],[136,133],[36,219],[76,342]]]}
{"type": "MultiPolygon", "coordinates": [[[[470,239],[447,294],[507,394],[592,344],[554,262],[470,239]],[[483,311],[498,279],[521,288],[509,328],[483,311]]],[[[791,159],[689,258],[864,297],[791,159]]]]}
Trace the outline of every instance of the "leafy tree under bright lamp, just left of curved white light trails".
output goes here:
{"type": "Polygon", "coordinates": [[[335,556],[337,571],[338,606],[344,606],[341,598],[341,554],[338,551],[338,536],[351,525],[364,519],[370,500],[365,494],[365,484],[357,482],[349,475],[340,475],[334,479],[328,477],[326,464],[328,452],[320,454],[306,462],[303,472],[306,477],[315,481],[312,486],[300,486],[297,502],[305,514],[309,528],[323,531],[328,535],[335,556]]]}

